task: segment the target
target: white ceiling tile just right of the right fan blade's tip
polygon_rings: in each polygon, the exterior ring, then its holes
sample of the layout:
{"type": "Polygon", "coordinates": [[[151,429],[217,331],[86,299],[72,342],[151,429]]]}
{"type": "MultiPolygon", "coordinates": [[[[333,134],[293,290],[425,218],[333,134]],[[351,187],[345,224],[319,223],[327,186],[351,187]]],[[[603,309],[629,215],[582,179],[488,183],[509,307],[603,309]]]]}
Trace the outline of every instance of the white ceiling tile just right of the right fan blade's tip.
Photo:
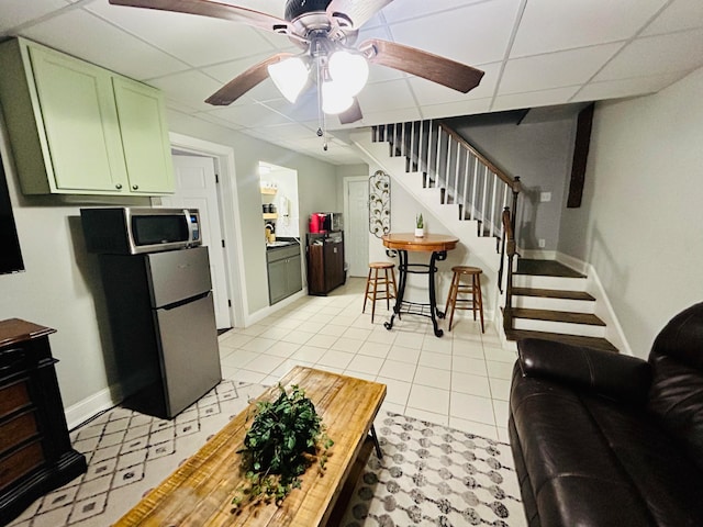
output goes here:
{"type": "Polygon", "coordinates": [[[518,93],[581,85],[588,81],[621,47],[621,44],[605,44],[511,59],[505,66],[499,93],[518,93]]]}

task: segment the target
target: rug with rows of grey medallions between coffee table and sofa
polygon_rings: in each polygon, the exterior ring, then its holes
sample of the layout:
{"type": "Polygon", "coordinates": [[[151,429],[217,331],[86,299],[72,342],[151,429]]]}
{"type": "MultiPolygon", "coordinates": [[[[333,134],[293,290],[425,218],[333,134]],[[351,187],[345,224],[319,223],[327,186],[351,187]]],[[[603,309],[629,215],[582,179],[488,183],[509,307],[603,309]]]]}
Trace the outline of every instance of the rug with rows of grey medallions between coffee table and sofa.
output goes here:
{"type": "Polygon", "coordinates": [[[388,412],[343,527],[526,525],[510,446],[388,412]]]}

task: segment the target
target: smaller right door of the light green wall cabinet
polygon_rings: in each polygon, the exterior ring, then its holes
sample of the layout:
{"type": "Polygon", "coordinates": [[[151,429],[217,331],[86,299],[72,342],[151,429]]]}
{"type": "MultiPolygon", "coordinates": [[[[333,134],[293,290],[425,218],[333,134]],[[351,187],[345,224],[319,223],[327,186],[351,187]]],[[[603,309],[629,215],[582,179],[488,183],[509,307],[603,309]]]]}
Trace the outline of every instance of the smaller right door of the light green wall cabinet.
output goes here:
{"type": "Polygon", "coordinates": [[[112,82],[130,190],[172,192],[174,167],[160,91],[122,77],[113,77],[112,82]]]}

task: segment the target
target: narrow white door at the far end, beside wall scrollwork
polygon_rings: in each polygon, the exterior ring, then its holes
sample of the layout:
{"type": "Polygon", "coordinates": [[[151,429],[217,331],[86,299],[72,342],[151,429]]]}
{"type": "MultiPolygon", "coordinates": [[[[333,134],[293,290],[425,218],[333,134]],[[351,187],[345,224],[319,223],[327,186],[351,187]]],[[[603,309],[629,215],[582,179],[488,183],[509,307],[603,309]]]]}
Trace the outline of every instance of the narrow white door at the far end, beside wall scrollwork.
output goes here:
{"type": "Polygon", "coordinates": [[[347,212],[344,225],[345,255],[350,277],[366,277],[369,270],[369,180],[345,179],[347,212]]]}

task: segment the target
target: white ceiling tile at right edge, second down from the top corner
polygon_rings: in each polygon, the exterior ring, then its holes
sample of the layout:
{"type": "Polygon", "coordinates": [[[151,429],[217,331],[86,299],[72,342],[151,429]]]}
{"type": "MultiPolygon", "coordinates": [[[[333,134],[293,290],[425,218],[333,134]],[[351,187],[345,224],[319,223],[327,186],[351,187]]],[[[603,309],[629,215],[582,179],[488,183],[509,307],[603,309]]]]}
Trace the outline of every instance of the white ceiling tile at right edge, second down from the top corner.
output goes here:
{"type": "Polygon", "coordinates": [[[703,66],[703,30],[647,36],[628,44],[593,80],[690,71],[703,66]]]}

